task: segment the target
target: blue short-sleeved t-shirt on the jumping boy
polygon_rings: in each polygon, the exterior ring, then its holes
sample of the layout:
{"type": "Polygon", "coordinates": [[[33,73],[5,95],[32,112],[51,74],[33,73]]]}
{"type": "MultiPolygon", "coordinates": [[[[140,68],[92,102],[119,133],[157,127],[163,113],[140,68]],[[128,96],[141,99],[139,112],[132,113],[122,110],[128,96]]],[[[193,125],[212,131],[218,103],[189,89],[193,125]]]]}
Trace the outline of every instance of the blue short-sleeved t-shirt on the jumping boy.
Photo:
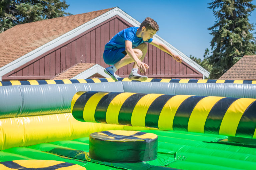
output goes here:
{"type": "MultiPolygon", "coordinates": [[[[137,29],[139,27],[130,27],[126,28],[119,33],[117,33],[106,45],[105,50],[108,49],[117,49],[117,48],[125,48],[125,41],[132,42],[132,47],[136,47],[139,44],[143,43],[143,39],[136,36],[137,29]]],[[[145,42],[152,42],[153,39],[149,39],[145,42]]]]}

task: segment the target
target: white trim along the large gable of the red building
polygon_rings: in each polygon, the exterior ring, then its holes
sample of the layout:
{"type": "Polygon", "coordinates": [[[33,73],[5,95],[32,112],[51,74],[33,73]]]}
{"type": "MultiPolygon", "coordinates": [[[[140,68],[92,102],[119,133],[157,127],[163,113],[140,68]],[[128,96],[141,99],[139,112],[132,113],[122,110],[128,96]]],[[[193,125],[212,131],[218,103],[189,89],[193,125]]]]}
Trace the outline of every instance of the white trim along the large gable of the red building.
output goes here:
{"type": "MultiPolygon", "coordinates": [[[[127,13],[125,13],[124,11],[122,11],[120,8],[116,7],[90,21],[88,21],[87,23],[63,34],[62,36],[36,48],[35,50],[19,57],[18,59],[6,64],[5,66],[0,68],[0,78],[2,78],[3,75],[9,73],[10,71],[20,67],[21,65],[31,61],[32,59],[42,55],[43,53],[61,45],[64,42],[67,42],[68,40],[82,34],[83,32],[85,32],[86,30],[89,30],[90,28],[93,28],[94,26],[114,17],[115,15],[120,16],[121,18],[123,18],[124,20],[126,20],[127,22],[129,22],[131,25],[134,25],[136,27],[140,26],[140,23],[135,20],[134,18],[132,18],[130,15],[128,15],[127,13]]],[[[188,56],[186,56],[185,54],[183,54],[181,51],[179,51],[178,49],[176,49],[175,47],[173,47],[171,44],[169,44],[168,42],[164,41],[162,38],[160,38],[159,36],[155,35],[154,39],[158,42],[162,42],[165,45],[167,45],[169,48],[172,49],[172,51],[176,54],[181,55],[182,59],[187,62],[188,64],[190,64],[192,67],[194,67],[196,70],[198,70],[199,72],[201,72],[203,74],[203,78],[204,76],[208,77],[209,76],[209,72],[206,71],[203,67],[201,67],[199,64],[197,64],[196,62],[194,62],[193,60],[191,60],[188,56]]]]}

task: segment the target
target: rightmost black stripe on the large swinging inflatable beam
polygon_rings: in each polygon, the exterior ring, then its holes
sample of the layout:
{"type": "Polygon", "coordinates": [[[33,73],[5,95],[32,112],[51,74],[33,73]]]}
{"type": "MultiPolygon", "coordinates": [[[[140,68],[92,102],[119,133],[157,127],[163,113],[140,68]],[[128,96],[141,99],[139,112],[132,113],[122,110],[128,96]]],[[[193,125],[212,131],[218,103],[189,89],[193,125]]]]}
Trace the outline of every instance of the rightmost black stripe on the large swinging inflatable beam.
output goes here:
{"type": "Polygon", "coordinates": [[[252,138],[256,128],[256,101],[244,111],[236,129],[236,136],[252,138]]]}

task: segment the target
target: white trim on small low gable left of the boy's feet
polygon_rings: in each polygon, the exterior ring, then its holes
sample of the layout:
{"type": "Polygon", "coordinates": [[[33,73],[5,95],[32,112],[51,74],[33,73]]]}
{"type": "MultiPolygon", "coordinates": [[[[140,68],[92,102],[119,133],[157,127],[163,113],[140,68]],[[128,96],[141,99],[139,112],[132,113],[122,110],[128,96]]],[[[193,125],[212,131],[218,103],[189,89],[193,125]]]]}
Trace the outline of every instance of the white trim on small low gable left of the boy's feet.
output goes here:
{"type": "Polygon", "coordinates": [[[81,72],[80,74],[77,74],[75,77],[72,77],[71,79],[87,79],[96,73],[106,78],[110,77],[108,74],[104,72],[104,67],[100,66],[99,64],[95,64],[91,68],[88,68],[87,70],[81,72]]]}

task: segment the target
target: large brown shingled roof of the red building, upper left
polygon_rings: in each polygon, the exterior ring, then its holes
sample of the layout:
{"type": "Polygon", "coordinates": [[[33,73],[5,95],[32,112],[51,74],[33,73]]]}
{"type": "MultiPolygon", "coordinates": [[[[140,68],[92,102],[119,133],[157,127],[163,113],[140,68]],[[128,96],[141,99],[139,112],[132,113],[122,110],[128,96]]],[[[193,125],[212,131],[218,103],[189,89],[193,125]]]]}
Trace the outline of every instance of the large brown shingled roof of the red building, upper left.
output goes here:
{"type": "Polygon", "coordinates": [[[0,34],[0,40],[4,42],[0,43],[0,67],[111,9],[113,8],[16,25],[6,30],[0,34]]]}

